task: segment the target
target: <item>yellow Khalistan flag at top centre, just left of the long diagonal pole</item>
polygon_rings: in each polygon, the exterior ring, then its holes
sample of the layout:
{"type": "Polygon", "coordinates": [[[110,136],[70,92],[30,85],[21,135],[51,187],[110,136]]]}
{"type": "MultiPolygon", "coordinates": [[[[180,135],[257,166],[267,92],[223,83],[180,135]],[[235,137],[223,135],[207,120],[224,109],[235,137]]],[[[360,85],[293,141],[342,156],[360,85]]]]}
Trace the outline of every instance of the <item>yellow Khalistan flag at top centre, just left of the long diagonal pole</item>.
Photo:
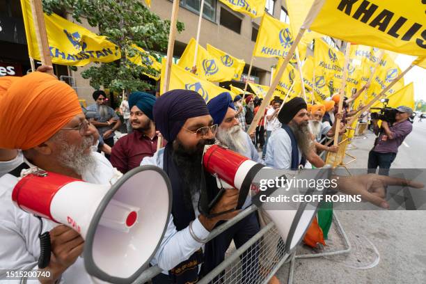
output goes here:
{"type": "Polygon", "coordinates": [[[290,26],[265,13],[260,22],[253,56],[285,57],[292,44],[290,26]]]}

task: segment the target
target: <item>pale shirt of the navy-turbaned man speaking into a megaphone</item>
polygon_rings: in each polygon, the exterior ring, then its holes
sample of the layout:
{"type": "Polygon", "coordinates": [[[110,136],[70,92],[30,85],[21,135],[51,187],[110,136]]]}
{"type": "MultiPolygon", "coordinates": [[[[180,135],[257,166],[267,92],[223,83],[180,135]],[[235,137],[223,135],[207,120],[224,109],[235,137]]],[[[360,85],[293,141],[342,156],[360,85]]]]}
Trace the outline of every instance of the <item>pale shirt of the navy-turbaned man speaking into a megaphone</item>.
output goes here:
{"type": "MultiPolygon", "coordinates": [[[[141,166],[153,165],[163,168],[163,157],[164,148],[161,148],[155,152],[154,156],[143,158],[141,166]]],[[[195,199],[197,198],[194,198],[194,203],[198,203],[198,200],[195,199]]],[[[200,213],[196,206],[194,207],[194,211],[196,219],[192,223],[192,230],[198,238],[205,239],[210,232],[206,230],[198,220],[198,215],[200,213]]],[[[196,240],[191,237],[189,227],[180,231],[176,230],[175,223],[173,223],[173,215],[171,215],[170,220],[168,221],[166,234],[164,235],[154,258],[151,260],[151,265],[158,265],[161,269],[164,269],[164,274],[168,274],[168,270],[179,265],[180,262],[187,260],[201,247],[202,244],[196,242],[196,240]]]]}

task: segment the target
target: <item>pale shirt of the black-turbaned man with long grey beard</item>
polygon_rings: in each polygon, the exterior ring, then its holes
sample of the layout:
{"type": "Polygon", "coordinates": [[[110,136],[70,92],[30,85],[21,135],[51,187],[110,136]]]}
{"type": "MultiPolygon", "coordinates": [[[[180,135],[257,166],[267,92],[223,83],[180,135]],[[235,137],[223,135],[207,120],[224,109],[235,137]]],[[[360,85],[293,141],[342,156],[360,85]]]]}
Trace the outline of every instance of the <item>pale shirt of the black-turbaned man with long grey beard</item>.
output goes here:
{"type": "MultiPolygon", "coordinates": [[[[299,161],[301,150],[299,145],[299,161]]],[[[269,137],[265,163],[271,168],[291,168],[292,166],[292,141],[283,128],[276,129],[269,137]]]]}

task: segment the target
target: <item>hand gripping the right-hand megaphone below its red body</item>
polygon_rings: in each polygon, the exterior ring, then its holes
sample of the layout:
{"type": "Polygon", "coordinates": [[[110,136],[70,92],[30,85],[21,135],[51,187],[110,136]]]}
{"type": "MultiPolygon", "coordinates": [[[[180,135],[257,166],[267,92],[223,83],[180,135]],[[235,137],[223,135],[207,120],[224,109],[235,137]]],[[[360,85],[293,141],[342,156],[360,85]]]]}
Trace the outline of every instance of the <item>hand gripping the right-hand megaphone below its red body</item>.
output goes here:
{"type": "MultiPolygon", "coordinates": [[[[219,212],[224,212],[228,210],[233,210],[237,207],[238,204],[238,189],[226,189],[225,193],[221,197],[221,200],[212,208],[212,212],[210,214],[215,214],[219,212]]],[[[207,219],[205,216],[200,215],[198,218],[200,222],[203,224],[206,230],[212,230],[217,222],[222,220],[229,220],[233,217],[237,216],[240,210],[232,211],[226,214],[221,214],[219,216],[213,217],[211,219],[207,219]]]]}

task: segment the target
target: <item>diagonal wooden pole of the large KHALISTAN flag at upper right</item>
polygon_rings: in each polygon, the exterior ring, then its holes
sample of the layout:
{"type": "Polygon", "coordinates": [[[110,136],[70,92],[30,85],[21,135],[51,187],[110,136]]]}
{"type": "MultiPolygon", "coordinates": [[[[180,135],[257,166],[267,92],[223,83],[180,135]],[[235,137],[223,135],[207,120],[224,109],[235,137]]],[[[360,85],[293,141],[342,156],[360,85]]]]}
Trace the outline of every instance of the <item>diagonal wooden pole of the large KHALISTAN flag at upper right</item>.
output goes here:
{"type": "Polygon", "coordinates": [[[276,86],[278,86],[278,83],[280,82],[281,77],[283,77],[283,73],[285,71],[285,68],[287,68],[287,64],[289,63],[290,58],[292,58],[294,51],[296,50],[296,47],[299,44],[299,42],[300,42],[300,40],[303,36],[303,33],[305,33],[305,31],[306,31],[306,29],[301,28],[299,30],[299,33],[297,33],[296,38],[294,38],[293,44],[290,47],[290,50],[288,51],[287,56],[285,56],[284,62],[281,65],[281,68],[276,71],[275,78],[272,81],[271,86],[269,87],[269,90],[267,92],[267,95],[265,96],[265,99],[263,100],[262,104],[260,104],[258,112],[256,113],[255,117],[253,118],[253,122],[251,123],[250,127],[248,127],[248,130],[247,130],[248,134],[251,134],[251,132],[253,132],[255,130],[256,126],[259,123],[260,118],[265,113],[265,109],[267,107],[267,104],[271,100],[272,95],[274,95],[274,90],[275,90],[276,86]]]}

